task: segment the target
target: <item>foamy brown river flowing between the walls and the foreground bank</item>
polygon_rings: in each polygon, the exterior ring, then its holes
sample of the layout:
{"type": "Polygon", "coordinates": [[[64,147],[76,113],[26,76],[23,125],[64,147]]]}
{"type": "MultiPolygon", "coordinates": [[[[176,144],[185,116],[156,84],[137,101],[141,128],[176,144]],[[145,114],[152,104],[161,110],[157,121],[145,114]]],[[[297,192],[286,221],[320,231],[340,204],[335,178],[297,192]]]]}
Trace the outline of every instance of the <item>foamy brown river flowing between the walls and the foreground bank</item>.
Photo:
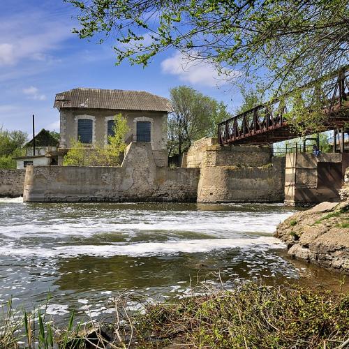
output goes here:
{"type": "Polygon", "coordinates": [[[0,303],[45,303],[98,318],[124,290],[147,299],[191,294],[197,280],[242,279],[336,288],[340,277],[290,260],[272,237],[295,210],[282,205],[24,204],[0,199],[0,303]]]}

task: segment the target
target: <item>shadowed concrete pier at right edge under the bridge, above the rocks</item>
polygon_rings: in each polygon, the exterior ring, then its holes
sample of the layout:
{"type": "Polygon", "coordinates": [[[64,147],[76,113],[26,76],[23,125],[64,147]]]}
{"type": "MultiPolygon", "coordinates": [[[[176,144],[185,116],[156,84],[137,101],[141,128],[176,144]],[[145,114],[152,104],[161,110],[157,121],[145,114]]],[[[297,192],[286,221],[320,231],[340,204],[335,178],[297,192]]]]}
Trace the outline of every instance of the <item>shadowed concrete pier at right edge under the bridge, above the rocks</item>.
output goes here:
{"type": "Polygon", "coordinates": [[[349,154],[287,154],[285,165],[285,205],[315,205],[338,202],[339,190],[349,165],[349,154]]]}

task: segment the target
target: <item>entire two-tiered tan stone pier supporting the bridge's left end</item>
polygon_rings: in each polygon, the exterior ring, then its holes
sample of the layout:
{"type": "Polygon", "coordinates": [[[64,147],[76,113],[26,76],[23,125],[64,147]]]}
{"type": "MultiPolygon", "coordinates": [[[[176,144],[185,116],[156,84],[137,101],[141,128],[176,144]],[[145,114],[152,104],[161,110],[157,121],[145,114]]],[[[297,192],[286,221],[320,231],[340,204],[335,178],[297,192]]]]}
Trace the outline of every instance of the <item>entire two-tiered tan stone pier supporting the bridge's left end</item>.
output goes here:
{"type": "Polygon", "coordinates": [[[270,147],[221,147],[202,138],[186,154],[188,167],[201,168],[198,202],[282,202],[285,159],[270,147]]]}

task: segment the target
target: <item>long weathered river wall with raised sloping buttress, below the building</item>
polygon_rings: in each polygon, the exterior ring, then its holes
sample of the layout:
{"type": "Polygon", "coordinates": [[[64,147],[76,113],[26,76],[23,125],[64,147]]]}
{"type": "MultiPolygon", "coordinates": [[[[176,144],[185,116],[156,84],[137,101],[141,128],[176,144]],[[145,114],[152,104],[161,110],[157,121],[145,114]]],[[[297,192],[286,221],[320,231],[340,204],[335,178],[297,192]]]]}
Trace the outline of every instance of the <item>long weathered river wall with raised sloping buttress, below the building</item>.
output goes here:
{"type": "Polygon", "coordinates": [[[25,202],[195,202],[199,169],[158,168],[151,144],[133,142],[119,168],[29,166],[25,202]]]}

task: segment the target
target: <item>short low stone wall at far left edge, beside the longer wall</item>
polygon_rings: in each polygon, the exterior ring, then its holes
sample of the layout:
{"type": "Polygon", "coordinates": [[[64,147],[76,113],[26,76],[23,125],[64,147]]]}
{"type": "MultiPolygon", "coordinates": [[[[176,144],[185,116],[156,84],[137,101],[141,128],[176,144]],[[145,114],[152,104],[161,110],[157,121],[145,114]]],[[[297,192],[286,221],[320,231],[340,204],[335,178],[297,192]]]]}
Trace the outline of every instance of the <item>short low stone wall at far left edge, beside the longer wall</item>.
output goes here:
{"type": "Polygon", "coordinates": [[[0,170],[0,197],[17,198],[23,195],[25,170],[0,170]]]}

